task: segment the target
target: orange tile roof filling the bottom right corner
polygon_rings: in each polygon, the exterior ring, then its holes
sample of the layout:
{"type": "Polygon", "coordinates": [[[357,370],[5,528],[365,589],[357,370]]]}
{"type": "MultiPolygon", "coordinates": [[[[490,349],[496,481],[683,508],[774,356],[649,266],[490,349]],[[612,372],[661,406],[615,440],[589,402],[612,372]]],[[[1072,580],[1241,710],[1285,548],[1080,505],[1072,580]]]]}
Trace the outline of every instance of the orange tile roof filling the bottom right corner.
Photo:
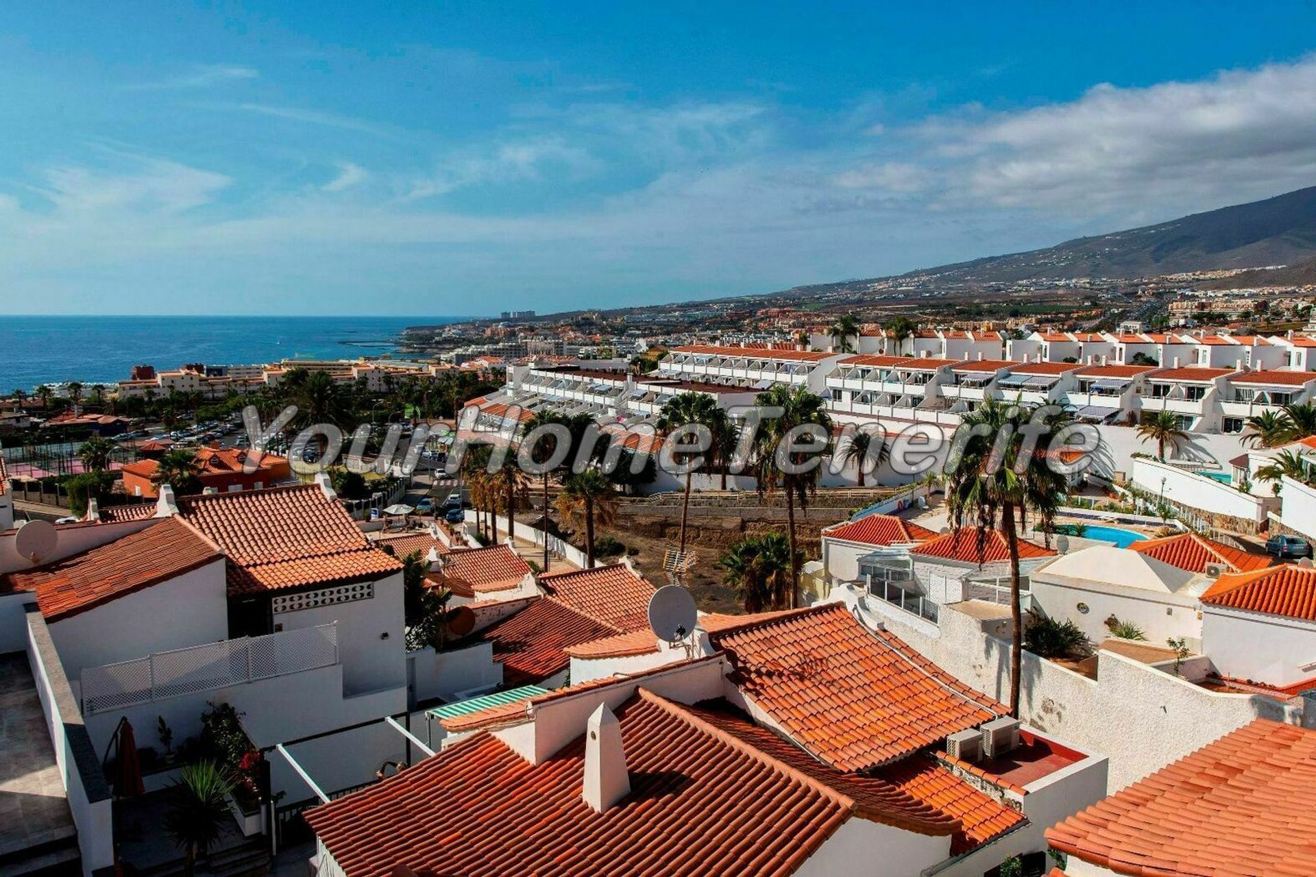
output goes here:
{"type": "Polygon", "coordinates": [[[1257,719],[1046,831],[1117,874],[1316,874],[1316,731],[1257,719]]]}

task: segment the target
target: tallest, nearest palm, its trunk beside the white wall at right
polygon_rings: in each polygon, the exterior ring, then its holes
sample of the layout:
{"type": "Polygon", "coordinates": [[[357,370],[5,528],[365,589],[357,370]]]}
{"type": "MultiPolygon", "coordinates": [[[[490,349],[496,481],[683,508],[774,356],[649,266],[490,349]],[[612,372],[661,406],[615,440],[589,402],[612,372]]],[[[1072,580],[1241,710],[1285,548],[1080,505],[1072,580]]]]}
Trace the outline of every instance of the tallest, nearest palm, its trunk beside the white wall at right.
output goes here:
{"type": "MultiPolygon", "coordinates": [[[[1054,431],[1069,415],[1046,418],[1054,431]]],[[[1053,469],[1042,451],[1025,446],[1020,427],[1033,421],[1033,410],[1017,404],[987,400],[961,419],[969,440],[957,460],[948,460],[946,498],[951,526],[971,521],[978,530],[978,554],[984,554],[987,534],[1000,529],[1009,550],[1009,615],[1013,622],[1009,650],[1009,711],[1019,715],[1019,671],[1024,625],[1020,614],[1019,530],[1028,511],[1050,534],[1065,492],[1065,476],[1053,469]],[[998,448],[996,444],[1000,444],[998,448]]],[[[958,440],[958,439],[957,439],[958,440]]]]}

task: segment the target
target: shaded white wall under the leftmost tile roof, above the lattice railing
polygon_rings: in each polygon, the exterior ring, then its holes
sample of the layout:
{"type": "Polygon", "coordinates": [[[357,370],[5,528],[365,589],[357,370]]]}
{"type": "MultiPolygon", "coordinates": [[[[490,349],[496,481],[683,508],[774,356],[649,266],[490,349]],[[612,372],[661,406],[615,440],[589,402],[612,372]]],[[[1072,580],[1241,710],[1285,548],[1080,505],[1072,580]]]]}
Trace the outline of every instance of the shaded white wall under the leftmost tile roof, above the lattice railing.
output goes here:
{"type": "MultiPolygon", "coordinates": [[[[50,623],[59,660],[72,680],[153,652],[228,639],[224,559],[50,623]]],[[[76,686],[80,690],[80,684],[76,686]]]]}

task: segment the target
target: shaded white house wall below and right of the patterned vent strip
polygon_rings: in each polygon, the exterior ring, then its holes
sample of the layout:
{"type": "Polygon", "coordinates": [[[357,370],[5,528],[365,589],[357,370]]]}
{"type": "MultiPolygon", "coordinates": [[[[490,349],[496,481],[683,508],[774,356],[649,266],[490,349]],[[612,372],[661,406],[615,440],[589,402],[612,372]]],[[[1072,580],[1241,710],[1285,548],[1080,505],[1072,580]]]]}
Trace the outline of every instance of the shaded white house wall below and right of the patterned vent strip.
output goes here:
{"type": "Polygon", "coordinates": [[[375,582],[370,600],[299,609],[274,617],[283,630],[338,623],[338,660],[346,694],[407,685],[407,636],[403,575],[375,582]],[[387,636],[383,636],[387,634],[387,636]]]}

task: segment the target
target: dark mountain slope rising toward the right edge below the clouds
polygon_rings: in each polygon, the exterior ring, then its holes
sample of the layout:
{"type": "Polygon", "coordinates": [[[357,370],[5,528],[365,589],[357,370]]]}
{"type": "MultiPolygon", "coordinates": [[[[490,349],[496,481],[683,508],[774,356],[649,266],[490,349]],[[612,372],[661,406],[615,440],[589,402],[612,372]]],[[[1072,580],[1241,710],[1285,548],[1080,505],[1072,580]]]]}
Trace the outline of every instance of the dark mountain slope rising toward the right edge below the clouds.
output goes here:
{"type": "Polygon", "coordinates": [[[1316,256],[1316,187],[1180,220],[1076,238],[1045,250],[912,271],[904,277],[1012,281],[1145,277],[1212,268],[1295,264],[1316,256]]]}

